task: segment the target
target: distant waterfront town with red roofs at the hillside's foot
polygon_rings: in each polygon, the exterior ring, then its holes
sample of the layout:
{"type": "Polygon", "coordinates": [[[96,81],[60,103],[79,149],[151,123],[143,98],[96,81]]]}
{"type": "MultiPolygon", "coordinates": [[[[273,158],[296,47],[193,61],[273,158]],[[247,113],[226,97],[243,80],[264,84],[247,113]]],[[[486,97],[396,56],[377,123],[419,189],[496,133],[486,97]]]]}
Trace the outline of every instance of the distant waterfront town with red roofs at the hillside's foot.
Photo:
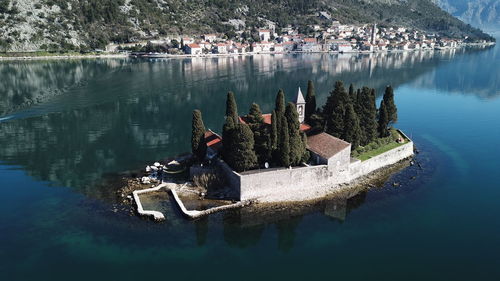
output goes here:
{"type": "MultiPolygon", "coordinates": [[[[346,25],[331,19],[326,12],[319,17],[331,20],[329,27],[310,26],[304,35],[291,26],[277,28],[273,22],[261,29],[240,30],[231,39],[226,34],[171,36],[135,43],[109,44],[107,52],[132,52],[145,55],[188,55],[289,53],[289,52],[386,52],[439,50],[466,45],[468,38],[443,38],[406,27],[378,27],[376,24],[346,25]]],[[[492,44],[480,41],[474,44],[492,44]]]]}

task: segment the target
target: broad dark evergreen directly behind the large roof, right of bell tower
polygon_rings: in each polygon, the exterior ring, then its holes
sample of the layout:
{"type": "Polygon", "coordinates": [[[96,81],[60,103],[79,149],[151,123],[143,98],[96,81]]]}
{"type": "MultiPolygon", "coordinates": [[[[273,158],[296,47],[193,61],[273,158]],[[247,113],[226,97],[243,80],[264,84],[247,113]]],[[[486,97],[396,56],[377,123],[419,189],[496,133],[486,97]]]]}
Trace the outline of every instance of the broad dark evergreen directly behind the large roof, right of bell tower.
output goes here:
{"type": "Polygon", "coordinates": [[[349,103],[350,99],[344,88],[344,83],[342,81],[335,82],[335,88],[323,107],[326,132],[330,135],[341,137],[344,131],[345,109],[349,103]]]}

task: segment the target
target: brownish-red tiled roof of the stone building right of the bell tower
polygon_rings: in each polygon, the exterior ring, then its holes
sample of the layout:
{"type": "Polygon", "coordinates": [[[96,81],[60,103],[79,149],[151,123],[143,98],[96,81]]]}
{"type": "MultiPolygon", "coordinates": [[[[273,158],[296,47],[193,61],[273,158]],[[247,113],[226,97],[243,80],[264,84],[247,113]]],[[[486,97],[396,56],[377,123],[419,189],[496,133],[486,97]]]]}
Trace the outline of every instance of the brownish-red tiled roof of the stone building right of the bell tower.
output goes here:
{"type": "Polygon", "coordinates": [[[307,137],[307,148],[325,159],[334,156],[350,145],[350,143],[327,133],[307,137]]]}

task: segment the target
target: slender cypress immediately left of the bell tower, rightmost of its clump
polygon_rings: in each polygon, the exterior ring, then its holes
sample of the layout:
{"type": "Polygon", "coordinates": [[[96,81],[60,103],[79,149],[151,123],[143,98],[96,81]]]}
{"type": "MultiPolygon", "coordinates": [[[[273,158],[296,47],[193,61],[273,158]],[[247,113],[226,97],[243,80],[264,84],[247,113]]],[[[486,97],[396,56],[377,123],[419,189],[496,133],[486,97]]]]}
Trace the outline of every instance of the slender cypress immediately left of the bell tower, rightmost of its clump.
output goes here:
{"type": "Polygon", "coordinates": [[[290,142],[290,164],[300,164],[304,147],[300,137],[300,122],[297,108],[293,103],[288,103],[285,110],[285,120],[288,125],[288,136],[290,142]]]}

